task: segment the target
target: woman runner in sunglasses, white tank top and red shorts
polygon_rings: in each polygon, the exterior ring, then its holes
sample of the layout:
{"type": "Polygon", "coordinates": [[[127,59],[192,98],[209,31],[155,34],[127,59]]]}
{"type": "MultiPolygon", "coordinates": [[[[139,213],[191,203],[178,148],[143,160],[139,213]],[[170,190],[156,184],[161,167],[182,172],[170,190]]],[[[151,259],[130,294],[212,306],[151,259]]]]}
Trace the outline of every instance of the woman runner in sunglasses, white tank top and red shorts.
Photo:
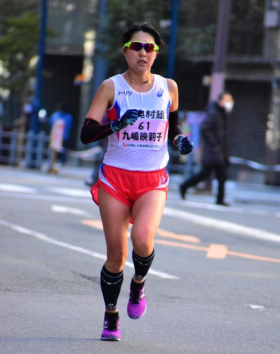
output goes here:
{"type": "Polygon", "coordinates": [[[98,182],[91,189],[107,246],[100,275],[105,302],[102,340],[121,338],[117,299],[128,253],[129,223],[133,224],[135,274],[127,313],[139,319],[146,311],[145,276],[154,258],[153,238],[169,183],[167,141],[174,141],[184,155],[193,147],[179,126],[176,82],[150,71],[164,47],[161,35],[150,24],[140,22],[124,32],[122,43],[128,70],[100,85],[81,131],[84,144],[109,137],[98,182]],[[105,112],[109,122],[101,124],[105,112]]]}

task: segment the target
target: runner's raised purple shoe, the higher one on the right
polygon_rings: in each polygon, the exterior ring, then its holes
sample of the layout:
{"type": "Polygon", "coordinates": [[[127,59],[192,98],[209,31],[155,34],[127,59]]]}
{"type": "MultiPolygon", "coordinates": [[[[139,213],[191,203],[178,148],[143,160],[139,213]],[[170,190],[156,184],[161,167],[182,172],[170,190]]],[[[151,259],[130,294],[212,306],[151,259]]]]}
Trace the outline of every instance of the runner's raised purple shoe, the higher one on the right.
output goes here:
{"type": "Polygon", "coordinates": [[[135,283],[132,279],[128,301],[128,316],[137,320],[146,312],[145,286],[144,283],[135,283]]]}

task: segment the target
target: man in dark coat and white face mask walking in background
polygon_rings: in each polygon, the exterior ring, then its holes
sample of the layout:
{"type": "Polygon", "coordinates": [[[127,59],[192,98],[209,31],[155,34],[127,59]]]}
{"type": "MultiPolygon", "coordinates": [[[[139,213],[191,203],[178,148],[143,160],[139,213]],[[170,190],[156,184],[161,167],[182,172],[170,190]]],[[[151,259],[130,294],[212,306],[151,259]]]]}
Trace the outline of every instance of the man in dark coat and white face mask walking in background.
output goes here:
{"type": "Polygon", "coordinates": [[[183,199],[189,187],[209,178],[211,171],[214,170],[218,180],[216,204],[228,205],[224,202],[226,170],[229,164],[227,114],[232,110],[233,105],[233,98],[228,92],[220,94],[217,101],[209,103],[206,119],[201,126],[202,170],[180,185],[180,194],[183,199]]]}

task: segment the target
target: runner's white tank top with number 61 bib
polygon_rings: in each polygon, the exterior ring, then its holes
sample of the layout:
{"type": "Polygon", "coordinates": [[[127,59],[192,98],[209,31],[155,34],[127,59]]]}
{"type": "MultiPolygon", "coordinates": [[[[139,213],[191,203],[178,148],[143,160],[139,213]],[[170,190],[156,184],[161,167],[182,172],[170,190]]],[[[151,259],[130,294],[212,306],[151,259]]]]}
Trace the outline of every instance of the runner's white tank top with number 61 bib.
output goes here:
{"type": "Polygon", "coordinates": [[[115,96],[107,120],[119,119],[128,109],[141,110],[134,125],[111,134],[103,162],[132,171],[155,171],[166,167],[169,154],[168,116],[171,99],[166,78],[154,74],[148,92],[133,90],[121,74],[110,77],[115,96]]]}

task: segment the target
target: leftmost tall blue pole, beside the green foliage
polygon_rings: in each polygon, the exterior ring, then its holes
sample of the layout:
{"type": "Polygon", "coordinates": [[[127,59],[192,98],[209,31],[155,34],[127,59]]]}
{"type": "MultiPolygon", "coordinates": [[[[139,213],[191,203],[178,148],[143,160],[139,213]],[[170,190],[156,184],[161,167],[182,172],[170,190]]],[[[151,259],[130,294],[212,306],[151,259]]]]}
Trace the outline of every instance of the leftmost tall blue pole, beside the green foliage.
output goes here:
{"type": "Polygon", "coordinates": [[[42,105],[42,87],[43,87],[43,69],[44,69],[44,55],[46,42],[46,28],[47,28],[47,14],[48,14],[48,0],[41,1],[41,21],[40,21],[40,36],[38,42],[38,63],[35,83],[35,92],[33,99],[33,111],[31,117],[30,129],[36,133],[38,132],[38,111],[42,105]]]}

